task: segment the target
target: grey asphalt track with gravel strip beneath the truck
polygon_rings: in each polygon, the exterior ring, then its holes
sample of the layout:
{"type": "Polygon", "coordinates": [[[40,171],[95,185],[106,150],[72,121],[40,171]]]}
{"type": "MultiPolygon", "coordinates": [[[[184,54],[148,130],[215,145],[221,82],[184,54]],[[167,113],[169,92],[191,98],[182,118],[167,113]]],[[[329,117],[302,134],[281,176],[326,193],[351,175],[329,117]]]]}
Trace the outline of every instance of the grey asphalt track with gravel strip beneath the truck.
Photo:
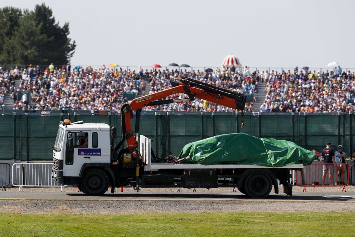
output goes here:
{"type": "MultiPolygon", "coordinates": [[[[265,199],[247,198],[241,193],[147,193],[130,192],[103,196],[87,196],[76,189],[60,192],[35,192],[33,189],[12,188],[0,192],[0,212],[10,213],[149,213],[149,212],[246,212],[246,211],[355,211],[355,189],[342,192],[341,187],[321,192],[302,192],[293,196],[270,194],[265,199]],[[56,207],[56,208],[55,208],[56,207]]],[[[301,192],[299,192],[301,190],[301,192]]],[[[224,191],[224,190],[223,190],[224,191]]],[[[281,190],[280,190],[281,191],[281,190]]],[[[314,191],[314,190],[313,190],[314,191]]],[[[317,190],[319,191],[319,189],[317,190]]]]}

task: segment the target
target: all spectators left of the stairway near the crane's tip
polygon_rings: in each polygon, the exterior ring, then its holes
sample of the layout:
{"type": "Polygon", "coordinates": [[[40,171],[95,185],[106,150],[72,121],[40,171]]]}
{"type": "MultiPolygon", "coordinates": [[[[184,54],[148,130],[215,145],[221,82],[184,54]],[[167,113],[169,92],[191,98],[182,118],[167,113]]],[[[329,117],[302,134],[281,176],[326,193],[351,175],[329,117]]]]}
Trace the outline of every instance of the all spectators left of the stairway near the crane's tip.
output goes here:
{"type": "MultiPolygon", "coordinates": [[[[71,69],[70,64],[46,69],[29,65],[28,68],[11,68],[6,75],[20,80],[18,88],[11,87],[13,109],[34,110],[89,110],[91,112],[120,112],[122,104],[128,103],[129,93],[135,96],[170,88],[170,79],[179,80],[182,76],[192,77],[218,87],[241,93],[253,93],[250,80],[242,80],[239,74],[229,69],[216,71],[189,72],[185,70],[151,69],[142,67],[124,70],[122,68],[100,68],[88,66],[71,69]],[[145,90],[150,85],[149,91],[145,90]],[[22,93],[19,93],[22,92],[22,93]],[[25,93],[24,93],[25,92],[25,93]],[[20,95],[17,98],[17,95],[20,95]]],[[[2,78],[4,75],[2,76],[2,78]]],[[[11,80],[10,80],[11,81],[11,80]]],[[[14,80],[12,80],[14,81],[14,80]]],[[[9,89],[9,86],[5,85],[9,89]]],[[[255,86],[254,86],[255,90],[255,86]]],[[[7,91],[2,93],[3,97],[7,91]]],[[[186,95],[179,95],[185,98],[186,95]]],[[[247,104],[246,111],[252,111],[252,103],[247,104]]],[[[147,111],[233,111],[201,99],[193,102],[181,102],[164,106],[152,106],[147,111]]]]}

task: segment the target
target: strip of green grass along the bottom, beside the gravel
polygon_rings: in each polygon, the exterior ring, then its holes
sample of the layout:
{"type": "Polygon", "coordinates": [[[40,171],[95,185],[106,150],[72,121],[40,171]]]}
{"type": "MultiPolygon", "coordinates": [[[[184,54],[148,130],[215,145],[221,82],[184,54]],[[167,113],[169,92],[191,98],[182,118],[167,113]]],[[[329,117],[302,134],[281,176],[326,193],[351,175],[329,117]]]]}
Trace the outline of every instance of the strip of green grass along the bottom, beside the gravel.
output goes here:
{"type": "Polygon", "coordinates": [[[0,236],[355,236],[355,212],[0,213],[0,236]]]}

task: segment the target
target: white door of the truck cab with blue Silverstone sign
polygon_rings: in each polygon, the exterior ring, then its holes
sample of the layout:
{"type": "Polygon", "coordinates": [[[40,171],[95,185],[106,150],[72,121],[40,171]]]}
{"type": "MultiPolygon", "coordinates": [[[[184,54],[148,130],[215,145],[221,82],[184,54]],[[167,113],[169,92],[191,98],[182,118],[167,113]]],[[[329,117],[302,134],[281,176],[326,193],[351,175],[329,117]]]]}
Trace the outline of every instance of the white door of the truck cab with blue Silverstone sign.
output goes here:
{"type": "Polygon", "coordinates": [[[85,163],[91,163],[89,131],[68,132],[64,157],[64,176],[76,177],[85,163]]]}

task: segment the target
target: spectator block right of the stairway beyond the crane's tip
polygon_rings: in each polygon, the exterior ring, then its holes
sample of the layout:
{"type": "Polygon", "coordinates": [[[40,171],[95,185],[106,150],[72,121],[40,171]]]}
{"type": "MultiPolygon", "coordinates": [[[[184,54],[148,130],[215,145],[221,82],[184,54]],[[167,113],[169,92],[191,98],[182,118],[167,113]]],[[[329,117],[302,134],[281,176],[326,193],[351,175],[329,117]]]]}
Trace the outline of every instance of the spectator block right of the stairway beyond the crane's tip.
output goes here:
{"type": "Polygon", "coordinates": [[[266,97],[260,112],[354,112],[355,74],[333,70],[262,71],[266,97]]]}

